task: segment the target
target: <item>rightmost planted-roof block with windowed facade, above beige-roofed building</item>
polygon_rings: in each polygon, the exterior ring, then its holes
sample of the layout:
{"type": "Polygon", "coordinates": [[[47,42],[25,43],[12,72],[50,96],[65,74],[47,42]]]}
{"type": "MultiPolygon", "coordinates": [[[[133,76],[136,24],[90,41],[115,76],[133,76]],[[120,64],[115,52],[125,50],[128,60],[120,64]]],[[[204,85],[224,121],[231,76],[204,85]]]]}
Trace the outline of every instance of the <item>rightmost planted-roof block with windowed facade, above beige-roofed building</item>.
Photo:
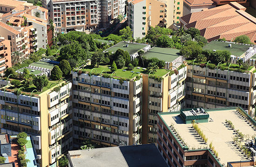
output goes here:
{"type": "MultiPolygon", "coordinates": [[[[227,50],[231,52],[230,62],[237,59],[253,64],[251,68],[239,71],[234,68],[217,69],[203,67],[189,62],[187,72],[186,105],[187,108],[203,107],[206,109],[239,106],[252,117],[255,116],[255,45],[240,45],[229,42],[212,41],[204,50],[227,50]]],[[[216,64],[217,65],[217,64],[216,64]]],[[[219,64],[221,65],[221,64],[219,64]]]]}

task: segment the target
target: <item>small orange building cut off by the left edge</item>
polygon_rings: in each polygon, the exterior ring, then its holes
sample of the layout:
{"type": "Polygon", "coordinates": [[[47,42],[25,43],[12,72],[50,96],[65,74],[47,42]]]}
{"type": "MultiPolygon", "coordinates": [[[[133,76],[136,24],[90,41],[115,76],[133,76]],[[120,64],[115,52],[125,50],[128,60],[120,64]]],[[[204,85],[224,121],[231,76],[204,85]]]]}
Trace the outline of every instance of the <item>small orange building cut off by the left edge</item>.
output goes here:
{"type": "Polygon", "coordinates": [[[12,56],[10,41],[0,38],[0,75],[4,74],[6,68],[12,67],[12,56]]]}

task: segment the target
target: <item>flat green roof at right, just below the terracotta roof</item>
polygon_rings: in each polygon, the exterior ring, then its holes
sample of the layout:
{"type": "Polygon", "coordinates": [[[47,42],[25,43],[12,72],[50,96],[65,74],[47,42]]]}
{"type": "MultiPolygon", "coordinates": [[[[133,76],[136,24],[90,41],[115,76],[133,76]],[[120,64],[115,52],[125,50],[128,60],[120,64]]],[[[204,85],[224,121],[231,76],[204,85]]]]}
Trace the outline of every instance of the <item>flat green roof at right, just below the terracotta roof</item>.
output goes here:
{"type": "Polygon", "coordinates": [[[209,44],[203,47],[203,50],[216,50],[216,51],[230,51],[231,55],[241,56],[245,51],[249,49],[250,45],[239,45],[228,42],[220,42],[220,41],[211,41],[209,44]],[[232,47],[229,47],[229,44],[232,47]]]}

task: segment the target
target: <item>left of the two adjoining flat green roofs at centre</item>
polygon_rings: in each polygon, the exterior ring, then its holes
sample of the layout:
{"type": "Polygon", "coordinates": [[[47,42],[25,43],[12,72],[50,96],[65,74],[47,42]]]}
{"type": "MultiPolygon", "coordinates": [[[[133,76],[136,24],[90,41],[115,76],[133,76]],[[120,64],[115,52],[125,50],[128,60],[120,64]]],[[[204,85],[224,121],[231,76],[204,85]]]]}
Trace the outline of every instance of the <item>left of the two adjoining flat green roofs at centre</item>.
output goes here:
{"type": "Polygon", "coordinates": [[[108,48],[106,51],[115,52],[117,49],[122,49],[124,51],[128,51],[129,55],[132,55],[132,54],[136,53],[137,51],[143,49],[146,46],[147,45],[143,45],[143,44],[120,42],[120,43],[108,48]],[[127,44],[128,44],[128,47],[126,47],[127,44]]]}

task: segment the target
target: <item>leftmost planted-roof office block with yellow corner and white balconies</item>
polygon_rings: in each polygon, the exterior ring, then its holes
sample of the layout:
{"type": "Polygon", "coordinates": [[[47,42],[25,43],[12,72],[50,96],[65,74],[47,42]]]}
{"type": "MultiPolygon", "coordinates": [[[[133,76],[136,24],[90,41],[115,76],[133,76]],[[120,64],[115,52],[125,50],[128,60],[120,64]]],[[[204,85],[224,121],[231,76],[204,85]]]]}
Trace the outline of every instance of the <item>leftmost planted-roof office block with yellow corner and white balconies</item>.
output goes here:
{"type": "MultiPolygon", "coordinates": [[[[33,75],[45,75],[54,65],[41,60],[27,68],[33,75]]],[[[8,84],[0,90],[1,133],[26,132],[33,138],[40,166],[57,166],[57,160],[73,147],[72,83],[49,81],[41,92],[33,86],[18,89],[8,84]]]]}

